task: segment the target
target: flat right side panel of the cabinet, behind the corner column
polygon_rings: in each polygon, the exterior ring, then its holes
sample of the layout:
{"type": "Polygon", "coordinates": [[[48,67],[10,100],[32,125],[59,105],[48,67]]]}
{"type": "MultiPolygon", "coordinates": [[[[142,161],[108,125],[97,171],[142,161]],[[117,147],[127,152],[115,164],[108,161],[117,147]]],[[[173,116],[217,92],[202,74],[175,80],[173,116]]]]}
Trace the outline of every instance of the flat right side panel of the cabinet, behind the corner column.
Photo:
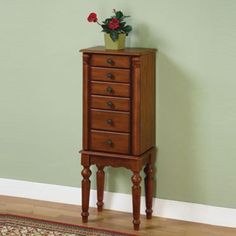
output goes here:
{"type": "Polygon", "coordinates": [[[141,56],[140,152],[155,146],[156,54],[141,56]]]}

